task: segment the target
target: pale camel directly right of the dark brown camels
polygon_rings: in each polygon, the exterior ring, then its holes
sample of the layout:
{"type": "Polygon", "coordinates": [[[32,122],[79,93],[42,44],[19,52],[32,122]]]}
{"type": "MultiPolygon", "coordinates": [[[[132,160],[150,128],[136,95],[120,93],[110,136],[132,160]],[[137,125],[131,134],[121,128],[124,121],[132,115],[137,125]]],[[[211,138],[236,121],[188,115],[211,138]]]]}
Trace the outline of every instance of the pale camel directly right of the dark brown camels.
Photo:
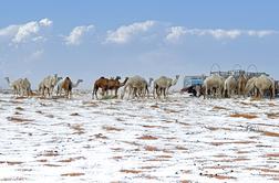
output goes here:
{"type": "Polygon", "coordinates": [[[138,94],[138,97],[145,97],[146,93],[148,95],[148,84],[141,76],[133,76],[127,79],[126,84],[124,85],[124,89],[121,96],[122,99],[124,98],[126,88],[128,88],[128,99],[130,99],[131,94],[133,95],[133,98],[137,97],[137,94],[138,94]]]}

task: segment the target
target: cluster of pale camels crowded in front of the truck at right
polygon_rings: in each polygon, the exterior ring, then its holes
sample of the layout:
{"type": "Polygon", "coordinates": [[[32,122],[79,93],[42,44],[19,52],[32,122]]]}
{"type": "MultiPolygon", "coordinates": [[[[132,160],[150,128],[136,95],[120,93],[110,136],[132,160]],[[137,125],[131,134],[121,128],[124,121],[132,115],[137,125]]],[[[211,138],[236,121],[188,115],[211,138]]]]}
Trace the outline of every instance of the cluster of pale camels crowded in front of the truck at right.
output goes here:
{"type": "Polygon", "coordinates": [[[262,98],[268,92],[270,99],[276,96],[276,83],[272,78],[260,75],[248,77],[245,73],[240,74],[238,78],[230,75],[227,78],[218,74],[208,76],[204,80],[203,87],[197,89],[198,95],[204,94],[205,98],[213,97],[231,97],[231,96],[254,96],[262,98]]]}

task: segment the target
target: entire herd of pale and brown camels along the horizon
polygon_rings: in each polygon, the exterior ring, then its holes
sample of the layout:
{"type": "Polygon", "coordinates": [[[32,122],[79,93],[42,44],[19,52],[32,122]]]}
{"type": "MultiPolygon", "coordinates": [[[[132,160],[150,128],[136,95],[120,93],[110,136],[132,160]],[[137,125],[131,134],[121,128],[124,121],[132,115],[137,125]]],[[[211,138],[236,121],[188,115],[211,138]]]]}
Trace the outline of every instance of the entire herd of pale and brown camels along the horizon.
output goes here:
{"type": "MultiPolygon", "coordinates": [[[[102,98],[108,97],[108,92],[111,92],[112,98],[145,98],[149,97],[149,92],[153,83],[153,97],[154,98],[166,98],[169,93],[169,88],[177,84],[179,75],[175,78],[161,76],[156,79],[149,78],[148,82],[142,76],[135,75],[132,77],[126,77],[121,82],[121,77],[115,78],[100,77],[94,82],[92,89],[92,99],[99,99],[100,90],[102,98]],[[122,94],[118,96],[118,89],[123,87],[122,94]]],[[[9,86],[13,90],[16,96],[32,96],[35,95],[31,90],[31,83],[28,78],[20,78],[10,82],[9,77],[6,77],[9,86]]],[[[39,84],[39,89],[37,95],[42,97],[52,97],[53,90],[56,87],[56,96],[64,96],[71,98],[72,89],[78,87],[82,79],[78,79],[73,83],[70,77],[59,77],[58,74],[50,75],[42,79],[39,84]]],[[[232,97],[232,96],[255,96],[262,98],[266,92],[269,92],[270,98],[275,98],[276,84],[275,80],[266,75],[260,75],[258,77],[248,77],[245,73],[241,73],[238,77],[234,75],[227,78],[213,74],[205,78],[203,86],[197,85],[195,92],[197,96],[204,95],[204,98],[221,98],[221,97],[232,97]]]]}

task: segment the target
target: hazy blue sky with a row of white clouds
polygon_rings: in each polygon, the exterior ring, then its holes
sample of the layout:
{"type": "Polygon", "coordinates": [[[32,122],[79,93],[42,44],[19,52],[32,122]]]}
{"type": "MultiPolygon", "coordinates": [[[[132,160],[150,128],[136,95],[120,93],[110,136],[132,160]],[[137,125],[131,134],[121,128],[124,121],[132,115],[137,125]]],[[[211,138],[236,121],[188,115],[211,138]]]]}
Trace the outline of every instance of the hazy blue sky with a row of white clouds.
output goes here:
{"type": "Polygon", "coordinates": [[[2,0],[0,12],[0,88],[4,76],[37,88],[58,73],[91,87],[100,76],[208,74],[213,63],[279,79],[277,0],[2,0]]]}

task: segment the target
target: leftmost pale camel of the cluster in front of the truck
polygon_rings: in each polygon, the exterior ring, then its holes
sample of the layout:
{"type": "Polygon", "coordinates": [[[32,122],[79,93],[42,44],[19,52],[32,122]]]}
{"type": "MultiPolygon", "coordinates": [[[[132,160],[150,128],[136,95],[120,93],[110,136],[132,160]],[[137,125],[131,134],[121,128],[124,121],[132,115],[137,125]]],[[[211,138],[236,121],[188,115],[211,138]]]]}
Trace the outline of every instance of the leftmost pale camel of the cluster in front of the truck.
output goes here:
{"type": "Polygon", "coordinates": [[[219,97],[221,97],[221,92],[224,89],[224,82],[225,79],[217,74],[206,77],[206,79],[204,80],[204,87],[205,87],[204,98],[208,98],[208,92],[213,93],[214,89],[216,89],[214,95],[217,94],[219,97]]]}

